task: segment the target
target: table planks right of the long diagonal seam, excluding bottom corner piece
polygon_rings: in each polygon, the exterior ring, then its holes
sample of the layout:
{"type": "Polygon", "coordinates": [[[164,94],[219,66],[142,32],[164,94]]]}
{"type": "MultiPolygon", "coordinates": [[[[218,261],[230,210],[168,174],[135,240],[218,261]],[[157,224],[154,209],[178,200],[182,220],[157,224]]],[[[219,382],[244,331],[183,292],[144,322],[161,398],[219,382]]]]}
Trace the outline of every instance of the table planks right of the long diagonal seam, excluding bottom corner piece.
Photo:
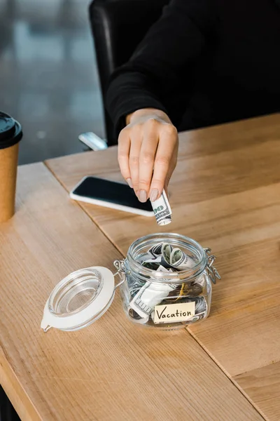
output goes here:
{"type": "MultiPolygon", "coordinates": [[[[139,236],[169,231],[212,248],[222,281],[211,316],[189,331],[232,377],[280,361],[279,140],[279,114],[181,133],[172,225],[81,204],[122,253],[139,236]]],[[[89,174],[121,180],[116,156],[111,148],[47,165],[70,191],[89,174]]]]}

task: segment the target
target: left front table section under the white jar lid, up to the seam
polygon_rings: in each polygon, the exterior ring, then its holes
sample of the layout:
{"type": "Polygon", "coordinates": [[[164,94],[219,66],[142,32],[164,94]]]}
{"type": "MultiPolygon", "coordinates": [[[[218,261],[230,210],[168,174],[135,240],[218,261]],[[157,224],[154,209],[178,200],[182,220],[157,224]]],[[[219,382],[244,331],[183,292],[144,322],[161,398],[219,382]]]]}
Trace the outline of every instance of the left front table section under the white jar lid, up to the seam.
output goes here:
{"type": "Polygon", "coordinates": [[[20,168],[0,250],[0,382],[22,421],[263,420],[186,330],[134,326],[118,293],[88,328],[43,333],[60,279],[121,258],[43,164],[20,168]]]}

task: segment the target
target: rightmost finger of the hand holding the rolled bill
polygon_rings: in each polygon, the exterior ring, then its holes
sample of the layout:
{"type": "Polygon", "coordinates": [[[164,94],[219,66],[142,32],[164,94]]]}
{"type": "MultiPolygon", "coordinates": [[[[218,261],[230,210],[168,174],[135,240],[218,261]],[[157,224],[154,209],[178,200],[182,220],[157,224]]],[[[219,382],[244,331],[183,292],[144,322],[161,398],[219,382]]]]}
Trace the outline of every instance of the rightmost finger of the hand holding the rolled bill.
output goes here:
{"type": "Polygon", "coordinates": [[[153,179],[151,182],[151,201],[158,199],[162,189],[167,187],[176,166],[178,153],[178,135],[176,128],[171,125],[163,126],[160,133],[160,142],[155,154],[153,179]]]}

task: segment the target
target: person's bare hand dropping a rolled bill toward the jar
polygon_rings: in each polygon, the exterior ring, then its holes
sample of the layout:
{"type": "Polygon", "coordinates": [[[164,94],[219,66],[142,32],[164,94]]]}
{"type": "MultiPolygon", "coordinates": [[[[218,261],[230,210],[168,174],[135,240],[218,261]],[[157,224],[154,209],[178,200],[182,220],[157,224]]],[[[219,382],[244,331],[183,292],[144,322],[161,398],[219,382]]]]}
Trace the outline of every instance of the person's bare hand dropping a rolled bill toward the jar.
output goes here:
{"type": "Polygon", "coordinates": [[[118,138],[118,162],[139,201],[158,199],[176,167],[178,134],[165,112],[139,109],[118,138]]]}

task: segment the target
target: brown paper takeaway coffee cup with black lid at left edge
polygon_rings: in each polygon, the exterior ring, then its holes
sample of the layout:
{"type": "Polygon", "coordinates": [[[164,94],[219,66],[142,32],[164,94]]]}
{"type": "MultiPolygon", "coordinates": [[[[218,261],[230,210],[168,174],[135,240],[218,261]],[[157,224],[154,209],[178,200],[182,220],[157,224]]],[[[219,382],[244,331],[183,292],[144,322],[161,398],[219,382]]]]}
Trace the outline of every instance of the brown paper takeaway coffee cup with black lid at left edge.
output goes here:
{"type": "Polygon", "coordinates": [[[0,112],[0,222],[10,219],[15,213],[18,142],[21,138],[20,123],[0,112]]]}

